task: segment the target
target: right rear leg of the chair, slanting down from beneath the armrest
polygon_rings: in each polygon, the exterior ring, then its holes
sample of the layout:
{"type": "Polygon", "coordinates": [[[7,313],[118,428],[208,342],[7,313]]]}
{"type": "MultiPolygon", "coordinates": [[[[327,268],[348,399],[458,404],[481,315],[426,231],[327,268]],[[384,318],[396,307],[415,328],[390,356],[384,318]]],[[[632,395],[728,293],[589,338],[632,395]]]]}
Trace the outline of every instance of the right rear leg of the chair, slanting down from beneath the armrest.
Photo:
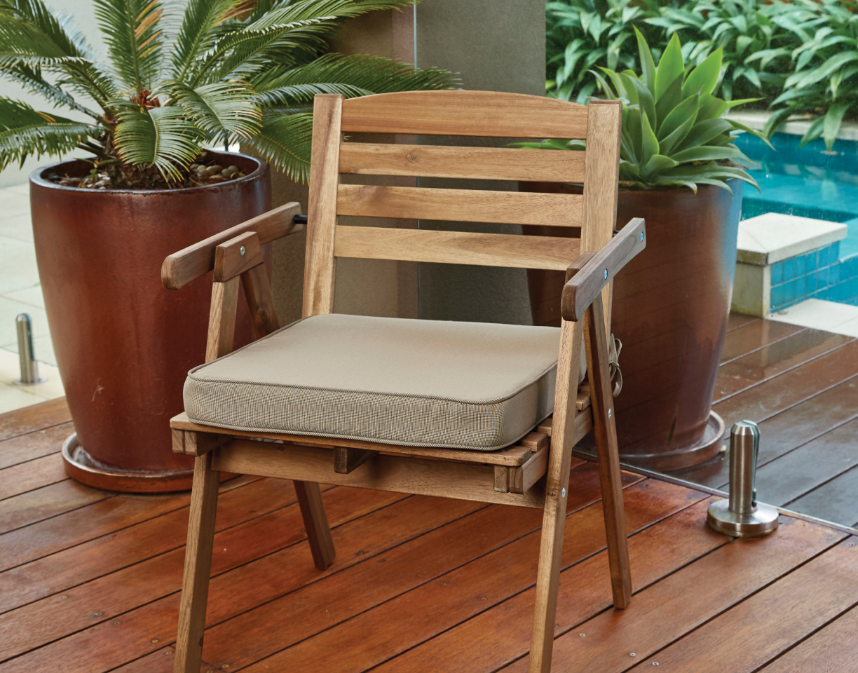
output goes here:
{"type": "Polygon", "coordinates": [[[587,371],[596,454],[599,458],[601,506],[605,516],[607,559],[611,569],[613,606],[625,608],[631,599],[631,568],[625,532],[623,486],[619,470],[617,427],[614,424],[611,375],[608,371],[607,337],[601,296],[587,309],[585,319],[587,371]]]}

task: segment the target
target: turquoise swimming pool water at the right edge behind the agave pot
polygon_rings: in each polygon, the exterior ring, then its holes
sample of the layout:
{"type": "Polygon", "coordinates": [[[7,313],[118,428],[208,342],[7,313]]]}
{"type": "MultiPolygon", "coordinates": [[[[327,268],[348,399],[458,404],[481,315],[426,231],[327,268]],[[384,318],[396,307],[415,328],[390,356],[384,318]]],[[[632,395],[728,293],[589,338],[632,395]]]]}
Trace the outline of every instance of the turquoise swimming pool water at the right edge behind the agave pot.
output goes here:
{"type": "Polygon", "coordinates": [[[776,133],[771,138],[775,149],[771,149],[749,133],[737,138],[736,146],[753,161],[749,173],[761,190],[746,185],[742,219],[786,213],[842,222],[848,234],[825,251],[824,273],[816,270],[815,263],[813,269],[810,263],[806,267],[791,262],[784,269],[773,267],[771,310],[807,298],[858,305],[858,142],[837,140],[829,152],[822,139],[802,148],[800,140],[801,136],[776,133]]]}

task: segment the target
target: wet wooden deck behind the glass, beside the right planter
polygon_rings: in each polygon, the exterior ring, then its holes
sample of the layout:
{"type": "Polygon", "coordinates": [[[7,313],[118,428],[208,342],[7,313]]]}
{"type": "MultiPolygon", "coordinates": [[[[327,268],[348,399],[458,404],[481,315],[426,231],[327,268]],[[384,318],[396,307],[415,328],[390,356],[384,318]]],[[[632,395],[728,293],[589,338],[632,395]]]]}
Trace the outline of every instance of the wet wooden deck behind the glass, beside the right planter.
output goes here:
{"type": "MultiPolygon", "coordinates": [[[[728,433],[735,421],[759,423],[759,499],[855,526],[858,340],[738,314],[730,319],[713,409],[728,433]]],[[[674,475],[726,488],[726,454],[674,475]]]]}

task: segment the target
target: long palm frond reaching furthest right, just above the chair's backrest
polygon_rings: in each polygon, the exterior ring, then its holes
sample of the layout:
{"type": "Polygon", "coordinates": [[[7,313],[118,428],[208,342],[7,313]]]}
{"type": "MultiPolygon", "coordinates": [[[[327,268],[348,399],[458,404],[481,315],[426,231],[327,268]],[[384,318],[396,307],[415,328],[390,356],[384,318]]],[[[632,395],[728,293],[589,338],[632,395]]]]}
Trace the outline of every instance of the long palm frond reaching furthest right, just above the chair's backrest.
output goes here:
{"type": "Polygon", "coordinates": [[[356,54],[325,54],[310,64],[277,74],[269,70],[252,86],[263,107],[297,106],[316,94],[343,94],[347,98],[393,91],[450,88],[458,80],[445,70],[417,70],[392,58],[356,54]]]}

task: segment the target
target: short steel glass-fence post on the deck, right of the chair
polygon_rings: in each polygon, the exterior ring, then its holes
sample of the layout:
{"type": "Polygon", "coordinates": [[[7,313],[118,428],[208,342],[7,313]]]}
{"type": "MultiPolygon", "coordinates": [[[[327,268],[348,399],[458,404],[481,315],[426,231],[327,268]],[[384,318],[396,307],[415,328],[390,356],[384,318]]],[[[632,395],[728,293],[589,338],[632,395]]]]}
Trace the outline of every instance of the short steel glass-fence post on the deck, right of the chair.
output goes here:
{"type": "Polygon", "coordinates": [[[732,537],[767,535],[777,529],[777,510],[757,502],[759,427],[739,421],[730,431],[730,497],[709,506],[706,522],[732,537]]]}

